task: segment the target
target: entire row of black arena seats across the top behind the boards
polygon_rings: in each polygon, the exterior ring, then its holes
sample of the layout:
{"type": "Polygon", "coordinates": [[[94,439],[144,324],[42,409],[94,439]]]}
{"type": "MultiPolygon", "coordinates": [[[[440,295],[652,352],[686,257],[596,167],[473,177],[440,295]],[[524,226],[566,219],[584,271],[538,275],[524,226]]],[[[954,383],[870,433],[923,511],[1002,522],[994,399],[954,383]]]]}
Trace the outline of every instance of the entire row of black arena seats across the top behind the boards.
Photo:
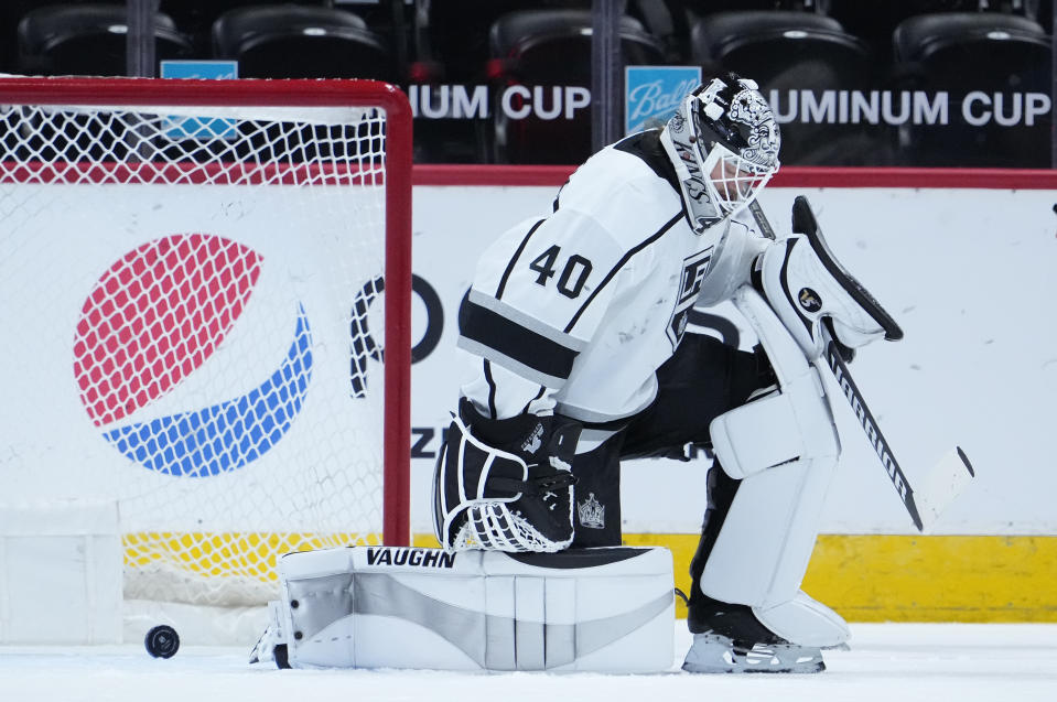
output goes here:
{"type": "MultiPolygon", "coordinates": [[[[125,73],[123,4],[35,4],[19,17],[11,72],[125,73]]],[[[161,2],[154,25],[160,61],[234,58],[241,77],[366,77],[438,90],[454,84],[591,84],[586,0],[206,4],[208,12],[201,3],[161,2]]],[[[966,132],[925,123],[807,123],[790,111],[803,90],[942,90],[951,111],[961,109],[970,90],[1048,95],[1050,36],[1038,0],[1006,0],[1001,11],[991,6],[999,3],[628,0],[621,55],[626,65],[733,69],[754,77],[766,93],[777,90],[787,101],[779,114],[791,118],[783,125],[786,163],[1049,165],[1048,114],[1016,130],[992,120],[966,132]],[[851,9],[855,3],[884,21],[869,24],[851,9]]],[[[571,121],[510,119],[495,104],[499,95],[489,91],[487,119],[418,120],[417,158],[570,163],[587,155],[590,110],[571,121]]]]}

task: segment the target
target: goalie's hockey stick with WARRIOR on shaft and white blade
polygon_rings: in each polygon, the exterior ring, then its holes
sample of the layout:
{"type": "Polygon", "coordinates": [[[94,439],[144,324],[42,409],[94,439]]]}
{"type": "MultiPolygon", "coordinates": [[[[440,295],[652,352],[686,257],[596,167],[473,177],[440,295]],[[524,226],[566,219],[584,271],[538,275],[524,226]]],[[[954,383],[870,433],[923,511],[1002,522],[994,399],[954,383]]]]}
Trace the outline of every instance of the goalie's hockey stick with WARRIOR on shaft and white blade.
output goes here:
{"type": "MultiPolygon", "coordinates": [[[[765,236],[775,238],[770,223],[767,222],[766,215],[755,201],[751,204],[749,210],[765,236]],[[755,205],[755,207],[752,205],[755,205]]],[[[798,196],[794,204],[794,230],[821,240],[815,213],[811,212],[811,207],[803,196],[798,196]]],[[[824,244],[821,244],[820,248],[824,251],[824,244]]],[[[828,255],[828,251],[824,252],[828,255]]],[[[827,267],[839,269],[841,274],[845,276],[856,288],[856,290],[850,290],[849,292],[858,299],[861,299],[864,304],[870,304],[876,309],[878,316],[883,318],[883,326],[885,326],[888,338],[897,339],[903,336],[903,332],[887,313],[884,312],[881,305],[840,267],[835,259],[823,261],[823,263],[826,263],[827,267]]],[[[895,454],[892,452],[888,441],[881,432],[881,428],[877,425],[877,420],[874,419],[873,412],[870,411],[870,407],[863,399],[859,386],[852,379],[848,364],[844,361],[845,349],[833,338],[829,325],[822,324],[821,327],[822,339],[826,343],[823,356],[827,367],[833,374],[833,378],[840,386],[849,404],[851,404],[852,411],[859,419],[859,423],[865,432],[867,441],[881,460],[881,465],[888,474],[888,478],[892,480],[892,485],[903,501],[903,506],[910,515],[914,526],[917,527],[918,531],[926,531],[926,529],[935,523],[943,509],[946,509],[961,490],[964,489],[969,482],[975,477],[972,464],[969,463],[969,457],[960,446],[954,446],[952,451],[923,476],[919,484],[919,492],[917,493],[918,499],[915,499],[916,493],[910,486],[910,482],[899,466],[898,461],[896,461],[895,454]],[[921,503],[920,508],[918,507],[918,501],[921,503]]]]}

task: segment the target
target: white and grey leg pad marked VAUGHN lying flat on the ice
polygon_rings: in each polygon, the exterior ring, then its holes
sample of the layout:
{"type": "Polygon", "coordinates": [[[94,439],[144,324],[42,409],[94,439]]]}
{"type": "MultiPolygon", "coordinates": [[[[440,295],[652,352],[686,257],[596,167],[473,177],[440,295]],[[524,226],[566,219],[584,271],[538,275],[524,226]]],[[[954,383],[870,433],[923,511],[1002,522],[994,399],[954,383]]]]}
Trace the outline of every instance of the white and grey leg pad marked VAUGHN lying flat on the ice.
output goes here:
{"type": "Polygon", "coordinates": [[[280,668],[671,668],[671,553],[354,547],[290,553],[250,662],[280,668]]]}

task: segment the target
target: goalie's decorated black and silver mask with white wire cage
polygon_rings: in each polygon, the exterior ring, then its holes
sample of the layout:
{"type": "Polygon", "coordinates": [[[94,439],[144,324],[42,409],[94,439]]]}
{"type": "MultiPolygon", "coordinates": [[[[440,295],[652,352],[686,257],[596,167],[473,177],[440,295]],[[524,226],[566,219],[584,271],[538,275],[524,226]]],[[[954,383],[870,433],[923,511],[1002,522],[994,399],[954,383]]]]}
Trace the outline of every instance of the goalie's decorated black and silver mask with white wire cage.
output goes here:
{"type": "Polygon", "coordinates": [[[754,82],[733,73],[688,95],[661,141],[699,234],[747,205],[778,170],[774,112],[754,82]]]}

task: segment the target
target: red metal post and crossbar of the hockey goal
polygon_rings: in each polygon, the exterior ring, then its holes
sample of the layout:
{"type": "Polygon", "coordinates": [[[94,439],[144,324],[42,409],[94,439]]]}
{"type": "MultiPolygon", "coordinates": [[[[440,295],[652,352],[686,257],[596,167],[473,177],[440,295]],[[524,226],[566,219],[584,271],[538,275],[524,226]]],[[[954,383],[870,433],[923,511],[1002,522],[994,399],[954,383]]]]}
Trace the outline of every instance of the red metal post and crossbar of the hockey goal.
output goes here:
{"type": "MultiPolygon", "coordinates": [[[[411,108],[376,80],[2,78],[0,105],[377,107],[386,111],[385,419],[382,540],[410,543],[411,108]]],[[[93,168],[109,168],[94,165],[93,168]]],[[[114,164],[115,169],[128,168],[114,164]]],[[[28,172],[35,170],[33,164],[28,172]]]]}

